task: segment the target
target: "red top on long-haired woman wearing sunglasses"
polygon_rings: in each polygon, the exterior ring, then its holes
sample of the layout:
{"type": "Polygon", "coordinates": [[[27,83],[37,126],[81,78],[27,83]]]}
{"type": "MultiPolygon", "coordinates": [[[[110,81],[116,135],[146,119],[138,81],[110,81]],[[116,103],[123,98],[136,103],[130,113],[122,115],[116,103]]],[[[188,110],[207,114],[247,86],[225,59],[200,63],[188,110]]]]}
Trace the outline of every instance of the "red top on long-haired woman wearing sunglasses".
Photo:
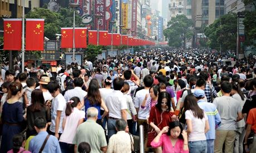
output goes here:
{"type": "Polygon", "coordinates": [[[149,124],[152,122],[156,126],[158,125],[157,127],[162,130],[163,127],[169,126],[169,123],[171,122],[171,116],[173,115],[173,112],[159,111],[156,106],[152,106],[149,114],[149,124]]]}

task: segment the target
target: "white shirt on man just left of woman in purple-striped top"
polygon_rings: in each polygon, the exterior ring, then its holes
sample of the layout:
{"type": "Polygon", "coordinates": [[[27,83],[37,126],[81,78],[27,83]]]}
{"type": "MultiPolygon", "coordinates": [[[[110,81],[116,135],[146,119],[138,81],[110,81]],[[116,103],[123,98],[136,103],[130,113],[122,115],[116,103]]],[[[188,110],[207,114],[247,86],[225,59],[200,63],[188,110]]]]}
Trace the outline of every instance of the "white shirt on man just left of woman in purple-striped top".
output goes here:
{"type": "Polygon", "coordinates": [[[149,116],[149,110],[148,109],[141,109],[140,106],[145,98],[145,95],[149,94],[149,89],[142,89],[140,91],[137,91],[135,96],[135,108],[139,108],[138,111],[138,119],[146,120],[147,116],[149,116]]]}

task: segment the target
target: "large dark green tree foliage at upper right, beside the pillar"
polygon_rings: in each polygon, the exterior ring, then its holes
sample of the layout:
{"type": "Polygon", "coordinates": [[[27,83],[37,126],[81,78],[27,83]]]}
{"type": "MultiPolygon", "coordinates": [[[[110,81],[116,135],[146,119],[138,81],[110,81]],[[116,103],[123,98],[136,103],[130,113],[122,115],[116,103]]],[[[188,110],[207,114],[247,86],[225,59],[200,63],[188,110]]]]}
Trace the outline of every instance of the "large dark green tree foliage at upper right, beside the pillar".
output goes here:
{"type": "Polygon", "coordinates": [[[237,47],[237,16],[228,13],[216,19],[209,27],[205,27],[204,34],[208,37],[207,44],[211,49],[235,50],[237,47]]]}

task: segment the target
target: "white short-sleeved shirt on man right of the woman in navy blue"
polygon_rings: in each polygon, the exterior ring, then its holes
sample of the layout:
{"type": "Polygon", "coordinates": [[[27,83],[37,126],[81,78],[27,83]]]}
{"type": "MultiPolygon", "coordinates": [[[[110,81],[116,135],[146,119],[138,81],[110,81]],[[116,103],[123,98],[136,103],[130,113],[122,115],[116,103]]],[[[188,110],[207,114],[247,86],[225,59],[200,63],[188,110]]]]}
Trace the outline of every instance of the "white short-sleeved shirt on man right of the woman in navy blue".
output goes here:
{"type": "Polygon", "coordinates": [[[106,106],[109,109],[109,116],[121,119],[121,110],[127,109],[126,99],[120,90],[114,90],[106,98],[106,106]]]}

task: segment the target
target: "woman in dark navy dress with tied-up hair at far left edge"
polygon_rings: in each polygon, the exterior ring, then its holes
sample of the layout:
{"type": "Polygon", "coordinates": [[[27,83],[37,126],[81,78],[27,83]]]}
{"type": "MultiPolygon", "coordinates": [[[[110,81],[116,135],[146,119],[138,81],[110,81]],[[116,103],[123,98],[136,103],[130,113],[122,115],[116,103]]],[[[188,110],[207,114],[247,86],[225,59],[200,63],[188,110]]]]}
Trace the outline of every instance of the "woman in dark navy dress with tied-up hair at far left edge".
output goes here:
{"type": "Polygon", "coordinates": [[[11,98],[3,104],[1,116],[3,129],[0,152],[11,150],[13,146],[12,137],[22,131],[21,123],[26,117],[26,113],[23,114],[22,103],[18,101],[22,94],[21,83],[13,82],[9,85],[8,95],[11,98]]]}

